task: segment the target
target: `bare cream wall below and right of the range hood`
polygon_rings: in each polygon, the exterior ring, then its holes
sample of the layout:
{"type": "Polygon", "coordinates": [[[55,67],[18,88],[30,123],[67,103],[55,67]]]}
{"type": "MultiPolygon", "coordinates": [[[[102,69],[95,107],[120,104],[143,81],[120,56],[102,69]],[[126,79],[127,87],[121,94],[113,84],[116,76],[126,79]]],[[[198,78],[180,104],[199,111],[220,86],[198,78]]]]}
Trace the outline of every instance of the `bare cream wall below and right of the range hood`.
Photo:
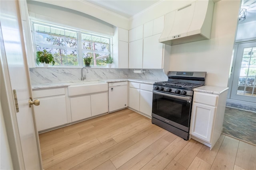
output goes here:
{"type": "Polygon", "coordinates": [[[206,71],[206,85],[228,86],[240,1],[214,4],[210,40],[172,46],[170,70],[206,71]]]}

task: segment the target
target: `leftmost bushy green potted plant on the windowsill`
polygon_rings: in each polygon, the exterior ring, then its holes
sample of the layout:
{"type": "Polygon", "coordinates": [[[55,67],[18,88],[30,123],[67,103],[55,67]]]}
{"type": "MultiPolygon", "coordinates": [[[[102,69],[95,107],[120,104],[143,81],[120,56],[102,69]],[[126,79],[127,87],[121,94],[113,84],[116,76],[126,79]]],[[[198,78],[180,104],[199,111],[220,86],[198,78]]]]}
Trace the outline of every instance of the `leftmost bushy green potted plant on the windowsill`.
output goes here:
{"type": "Polygon", "coordinates": [[[42,63],[43,66],[49,66],[50,63],[54,65],[55,61],[54,61],[54,58],[52,57],[52,54],[46,51],[46,49],[44,49],[43,51],[36,52],[36,63],[38,65],[42,63]]]}

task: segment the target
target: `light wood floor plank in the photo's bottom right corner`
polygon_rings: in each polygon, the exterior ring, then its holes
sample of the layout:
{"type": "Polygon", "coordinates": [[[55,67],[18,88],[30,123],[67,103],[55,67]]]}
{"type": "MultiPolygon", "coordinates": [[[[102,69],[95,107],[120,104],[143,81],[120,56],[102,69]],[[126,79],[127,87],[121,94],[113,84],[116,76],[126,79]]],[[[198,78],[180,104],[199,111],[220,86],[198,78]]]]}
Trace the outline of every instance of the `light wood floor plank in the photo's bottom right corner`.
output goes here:
{"type": "Polygon", "coordinates": [[[246,170],[256,170],[256,146],[240,141],[235,164],[246,170]]]}

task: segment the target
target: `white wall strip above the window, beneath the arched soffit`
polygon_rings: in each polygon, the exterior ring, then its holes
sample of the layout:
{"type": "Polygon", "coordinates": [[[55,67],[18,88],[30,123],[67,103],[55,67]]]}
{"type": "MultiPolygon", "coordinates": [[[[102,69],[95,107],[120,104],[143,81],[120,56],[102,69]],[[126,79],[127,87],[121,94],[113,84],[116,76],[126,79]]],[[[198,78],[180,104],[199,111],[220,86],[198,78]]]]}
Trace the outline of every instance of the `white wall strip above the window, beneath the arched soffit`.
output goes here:
{"type": "MultiPolygon", "coordinates": [[[[64,2],[66,1],[61,1],[60,4],[64,2]]],[[[114,35],[115,27],[113,25],[82,12],[36,1],[27,1],[27,4],[30,17],[70,25],[92,32],[114,35]]]]}

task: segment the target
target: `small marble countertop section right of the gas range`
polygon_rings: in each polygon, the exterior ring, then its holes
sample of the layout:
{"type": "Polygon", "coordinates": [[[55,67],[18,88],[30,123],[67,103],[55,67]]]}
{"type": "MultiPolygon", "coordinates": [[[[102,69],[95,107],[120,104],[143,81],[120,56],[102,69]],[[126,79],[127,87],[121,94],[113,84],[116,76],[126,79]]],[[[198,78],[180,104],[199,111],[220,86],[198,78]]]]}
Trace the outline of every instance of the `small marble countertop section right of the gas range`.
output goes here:
{"type": "Polygon", "coordinates": [[[217,94],[217,95],[222,94],[226,90],[228,90],[228,87],[207,86],[207,85],[206,86],[200,86],[198,88],[194,88],[194,92],[217,94]]]}

